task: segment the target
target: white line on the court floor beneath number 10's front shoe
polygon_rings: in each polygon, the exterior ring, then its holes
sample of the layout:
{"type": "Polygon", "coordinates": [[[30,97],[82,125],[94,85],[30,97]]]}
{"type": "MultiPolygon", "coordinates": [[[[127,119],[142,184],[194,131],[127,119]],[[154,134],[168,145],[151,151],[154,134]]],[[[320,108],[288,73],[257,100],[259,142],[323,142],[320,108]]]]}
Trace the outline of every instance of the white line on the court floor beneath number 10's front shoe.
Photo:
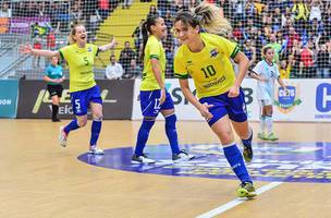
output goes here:
{"type": "MultiPolygon", "coordinates": [[[[258,189],[256,191],[256,193],[258,195],[260,195],[263,192],[272,190],[273,187],[277,187],[278,185],[280,185],[283,182],[271,182],[271,183],[269,183],[269,184],[267,184],[267,185],[261,186],[260,189],[258,189]]],[[[233,207],[235,207],[235,206],[244,203],[245,201],[246,201],[245,198],[235,198],[235,199],[233,199],[233,201],[231,201],[231,202],[229,202],[229,203],[226,203],[226,204],[224,204],[224,205],[222,205],[222,206],[220,206],[218,208],[214,208],[214,209],[212,209],[210,211],[207,211],[207,213],[205,213],[203,215],[199,215],[196,218],[212,218],[212,217],[214,217],[217,215],[220,215],[220,214],[222,214],[222,213],[224,213],[224,211],[226,211],[226,210],[229,210],[229,209],[231,209],[231,208],[233,208],[233,207]]]]}

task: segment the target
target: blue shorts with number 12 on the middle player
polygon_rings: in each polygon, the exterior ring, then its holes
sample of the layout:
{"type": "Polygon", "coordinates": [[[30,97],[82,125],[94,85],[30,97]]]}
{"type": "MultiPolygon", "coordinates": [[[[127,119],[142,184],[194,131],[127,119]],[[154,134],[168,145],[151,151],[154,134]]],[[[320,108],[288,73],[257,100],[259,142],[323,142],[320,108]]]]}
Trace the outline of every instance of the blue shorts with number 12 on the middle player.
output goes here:
{"type": "Polygon", "coordinates": [[[166,100],[160,105],[161,90],[140,90],[140,108],[144,117],[158,117],[160,110],[173,109],[173,100],[166,90],[166,100]]]}

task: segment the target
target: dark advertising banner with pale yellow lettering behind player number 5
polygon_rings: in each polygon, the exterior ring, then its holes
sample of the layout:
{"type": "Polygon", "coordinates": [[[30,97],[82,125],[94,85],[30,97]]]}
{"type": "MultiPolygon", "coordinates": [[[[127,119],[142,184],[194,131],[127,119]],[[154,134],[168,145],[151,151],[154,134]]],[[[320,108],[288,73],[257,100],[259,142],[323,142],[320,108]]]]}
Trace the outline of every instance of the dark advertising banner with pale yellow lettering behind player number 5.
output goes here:
{"type": "MultiPolygon", "coordinates": [[[[103,119],[130,119],[132,114],[133,80],[97,81],[103,100],[103,119]]],[[[73,118],[69,82],[63,83],[59,118],[73,118]]],[[[22,81],[17,118],[51,118],[51,99],[44,81],[22,81]]]]}

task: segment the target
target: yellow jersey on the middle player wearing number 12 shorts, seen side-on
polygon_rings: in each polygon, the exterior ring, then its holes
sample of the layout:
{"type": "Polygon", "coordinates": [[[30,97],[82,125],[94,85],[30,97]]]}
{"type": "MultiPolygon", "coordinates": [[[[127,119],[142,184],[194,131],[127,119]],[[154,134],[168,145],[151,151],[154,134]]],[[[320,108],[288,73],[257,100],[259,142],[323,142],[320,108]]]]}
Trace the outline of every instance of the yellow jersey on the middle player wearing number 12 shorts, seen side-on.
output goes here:
{"type": "Polygon", "coordinates": [[[148,37],[147,44],[145,46],[145,57],[144,57],[144,71],[142,76],[140,90],[156,90],[160,89],[160,86],[154,75],[151,69],[151,59],[158,59],[161,71],[162,71],[162,80],[166,77],[166,52],[162,46],[162,43],[150,35],[148,37]]]}

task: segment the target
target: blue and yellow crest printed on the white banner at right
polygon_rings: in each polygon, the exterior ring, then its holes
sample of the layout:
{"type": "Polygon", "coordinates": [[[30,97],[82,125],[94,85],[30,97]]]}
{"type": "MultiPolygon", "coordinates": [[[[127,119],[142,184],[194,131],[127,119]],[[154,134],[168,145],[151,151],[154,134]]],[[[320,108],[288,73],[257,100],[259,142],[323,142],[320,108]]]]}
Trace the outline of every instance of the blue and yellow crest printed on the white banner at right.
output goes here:
{"type": "Polygon", "coordinates": [[[277,99],[274,100],[274,105],[282,113],[291,112],[295,106],[302,104],[299,99],[299,87],[298,86],[286,86],[287,93],[284,88],[279,87],[277,92],[277,99]]]}

